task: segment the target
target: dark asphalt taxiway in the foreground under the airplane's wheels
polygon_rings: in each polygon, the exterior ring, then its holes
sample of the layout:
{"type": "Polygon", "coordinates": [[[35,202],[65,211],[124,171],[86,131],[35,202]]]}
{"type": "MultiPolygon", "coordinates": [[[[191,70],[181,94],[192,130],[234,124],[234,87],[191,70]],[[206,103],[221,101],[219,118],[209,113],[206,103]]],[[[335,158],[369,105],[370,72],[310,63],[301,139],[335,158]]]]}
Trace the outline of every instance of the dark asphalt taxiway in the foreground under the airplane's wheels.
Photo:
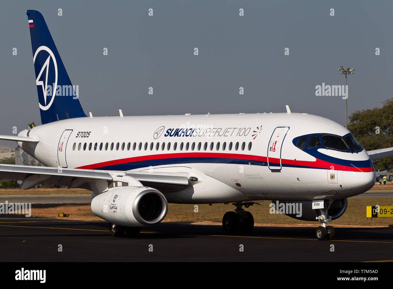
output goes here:
{"type": "Polygon", "coordinates": [[[226,236],[219,225],[160,223],[136,239],[110,236],[107,222],[14,217],[0,219],[0,227],[2,262],[393,260],[388,227],[336,228],[333,241],[317,241],[313,227],[254,227],[252,236],[226,236]]]}

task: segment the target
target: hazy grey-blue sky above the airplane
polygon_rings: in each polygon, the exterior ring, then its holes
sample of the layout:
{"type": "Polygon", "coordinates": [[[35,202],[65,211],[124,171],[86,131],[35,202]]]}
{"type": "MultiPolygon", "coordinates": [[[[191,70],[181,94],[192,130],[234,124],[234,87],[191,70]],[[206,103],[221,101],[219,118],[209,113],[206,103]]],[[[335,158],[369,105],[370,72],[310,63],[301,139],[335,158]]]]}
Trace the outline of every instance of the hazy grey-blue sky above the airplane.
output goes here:
{"type": "Polygon", "coordinates": [[[345,84],[341,65],[355,68],[348,115],[393,97],[391,1],[3,0],[0,7],[0,134],[41,123],[28,9],[44,16],[93,116],[285,112],[289,105],[345,125],[342,96],[316,96],[318,85],[345,84]]]}

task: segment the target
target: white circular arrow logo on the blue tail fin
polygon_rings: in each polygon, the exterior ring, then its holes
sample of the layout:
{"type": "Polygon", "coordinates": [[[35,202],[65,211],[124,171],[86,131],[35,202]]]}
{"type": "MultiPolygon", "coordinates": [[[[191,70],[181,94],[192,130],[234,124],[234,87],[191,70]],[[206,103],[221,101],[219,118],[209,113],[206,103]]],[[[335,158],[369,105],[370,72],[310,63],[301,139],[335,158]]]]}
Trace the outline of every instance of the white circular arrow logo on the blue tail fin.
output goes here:
{"type": "MultiPolygon", "coordinates": [[[[44,96],[44,103],[40,103],[40,109],[42,110],[48,110],[52,103],[53,100],[55,99],[55,92],[56,92],[56,88],[57,88],[57,63],[56,63],[56,59],[55,59],[55,55],[53,55],[53,52],[46,46],[40,46],[36,52],[34,53],[34,57],[33,57],[33,62],[35,64],[35,59],[37,58],[37,55],[41,52],[41,53],[45,53],[43,51],[46,51],[49,53],[49,56],[46,58],[46,61],[44,62],[44,64],[42,65],[42,68],[40,69],[40,72],[37,76],[37,79],[35,80],[37,85],[40,85],[42,87],[42,94],[44,96]],[[50,65],[50,59],[52,59],[53,61],[53,67],[52,65],[50,65]],[[55,74],[55,81],[54,83],[49,83],[49,85],[53,85],[52,90],[51,90],[51,99],[48,103],[48,75],[52,75],[49,73],[53,73],[54,70],[54,74],[55,74]]],[[[40,55],[40,57],[42,57],[42,59],[45,59],[46,57],[46,53],[45,55],[40,55]]]]}

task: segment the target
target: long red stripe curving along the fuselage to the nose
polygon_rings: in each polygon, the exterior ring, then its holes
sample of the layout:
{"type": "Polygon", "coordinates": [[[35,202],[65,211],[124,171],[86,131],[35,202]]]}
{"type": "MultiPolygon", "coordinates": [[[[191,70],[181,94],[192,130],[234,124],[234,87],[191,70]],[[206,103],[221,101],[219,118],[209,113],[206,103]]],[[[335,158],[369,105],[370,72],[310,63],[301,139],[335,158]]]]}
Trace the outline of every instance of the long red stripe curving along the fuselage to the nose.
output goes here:
{"type": "MultiPolygon", "coordinates": [[[[77,169],[97,169],[107,166],[113,166],[118,164],[126,164],[128,162],[139,162],[144,160],[160,160],[165,158],[231,158],[231,159],[241,159],[241,160],[256,160],[259,162],[267,162],[268,158],[266,156],[255,156],[255,155],[242,155],[242,154],[232,154],[232,153],[166,153],[158,155],[147,155],[147,156],[135,156],[132,158],[122,158],[119,160],[110,160],[107,162],[100,162],[97,164],[91,164],[87,166],[81,166],[77,169]]],[[[269,158],[271,163],[280,163],[279,158],[269,158]]],[[[187,162],[185,162],[187,163],[187,162]]],[[[336,171],[362,171],[364,173],[370,173],[374,171],[374,166],[368,168],[356,168],[354,166],[342,166],[334,164],[331,162],[326,162],[324,160],[316,159],[316,161],[303,161],[303,160],[286,160],[281,159],[281,164],[288,164],[293,166],[305,166],[316,169],[334,169],[336,171]]]]}

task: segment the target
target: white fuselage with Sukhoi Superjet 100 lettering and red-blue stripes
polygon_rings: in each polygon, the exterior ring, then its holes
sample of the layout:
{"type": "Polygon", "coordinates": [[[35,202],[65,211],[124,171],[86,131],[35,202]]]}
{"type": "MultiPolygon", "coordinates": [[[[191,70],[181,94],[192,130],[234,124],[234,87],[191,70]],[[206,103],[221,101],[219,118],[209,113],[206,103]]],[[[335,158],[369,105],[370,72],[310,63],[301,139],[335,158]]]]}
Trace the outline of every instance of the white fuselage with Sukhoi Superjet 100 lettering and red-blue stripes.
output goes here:
{"type": "Polygon", "coordinates": [[[165,193],[173,203],[305,201],[342,199],[374,184],[364,149],[293,143],[303,135],[348,133],[334,121],[298,113],[85,117],[22,131],[19,136],[39,143],[18,145],[45,166],[197,177],[192,186],[165,193]]]}

